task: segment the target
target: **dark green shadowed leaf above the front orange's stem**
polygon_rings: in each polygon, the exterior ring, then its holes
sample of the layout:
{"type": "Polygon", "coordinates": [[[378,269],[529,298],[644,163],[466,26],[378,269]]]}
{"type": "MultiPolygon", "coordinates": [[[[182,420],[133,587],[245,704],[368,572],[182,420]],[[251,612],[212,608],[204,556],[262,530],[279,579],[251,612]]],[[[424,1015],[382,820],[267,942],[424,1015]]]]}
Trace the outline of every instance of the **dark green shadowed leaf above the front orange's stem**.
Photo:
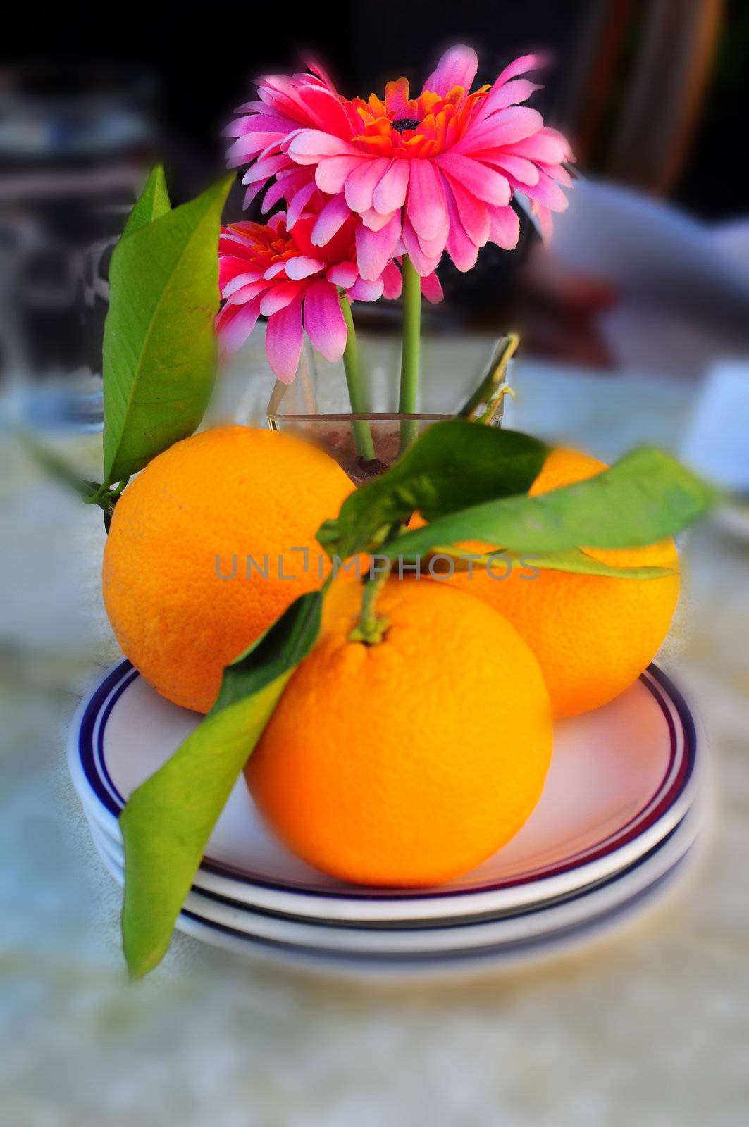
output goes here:
{"type": "Polygon", "coordinates": [[[416,511],[432,521],[467,502],[527,492],[547,453],[543,442],[516,431],[466,419],[435,423],[387,472],[351,494],[318,540],[345,558],[377,547],[391,524],[416,511]]]}

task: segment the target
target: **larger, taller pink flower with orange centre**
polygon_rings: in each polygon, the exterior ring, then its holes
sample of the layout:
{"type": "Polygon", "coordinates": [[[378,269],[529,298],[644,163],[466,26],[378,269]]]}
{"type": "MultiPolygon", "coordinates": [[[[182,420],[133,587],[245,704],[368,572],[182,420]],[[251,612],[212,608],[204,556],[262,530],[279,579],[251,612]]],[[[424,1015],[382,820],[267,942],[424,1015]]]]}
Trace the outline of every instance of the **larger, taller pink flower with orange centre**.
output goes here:
{"type": "Polygon", "coordinates": [[[538,87],[519,76],[539,63],[534,55],[517,59],[492,87],[470,94],[476,53],[453,47],[417,98],[399,79],[388,83],[384,101],[342,98],[319,68],[264,79],[261,100],[241,107],[245,116],[231,130],[238,140],[230,163],[254,162],[244,178],[250,195],[276,178],[265,207],[281,197],[303,207],[319,188],[328,202],[311,232],[315,245],[351,214],[361,216],[356,259],[364,278],[404,251],[422,275],[446,249],[468,270],[487,241],[516,247],[514,193],[530,199],[546,233],[549,213],[566,207],[569,145],[521,105],[538,87]]]}

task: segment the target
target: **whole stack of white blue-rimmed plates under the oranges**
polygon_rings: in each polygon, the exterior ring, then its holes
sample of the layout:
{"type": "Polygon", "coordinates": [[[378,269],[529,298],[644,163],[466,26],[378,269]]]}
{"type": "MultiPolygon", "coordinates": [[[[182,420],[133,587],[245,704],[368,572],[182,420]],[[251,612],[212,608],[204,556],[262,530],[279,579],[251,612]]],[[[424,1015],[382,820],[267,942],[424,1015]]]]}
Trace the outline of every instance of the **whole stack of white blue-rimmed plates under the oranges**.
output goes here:
{"type": "MultiPolygon", "coordinates": [[[[96,848],[122,882],[118,816],[199,722],[129,662],[72,724],[69,764],[96,848]]],[[[265,829],[244,778],[209,842],[179,930],[265,961],[340,974],[455,974],[517,966],[619,929],[675,887],[695,855],[704,749],[655,666],[616,701],[563,721],[541,799],[520,833],[439,888],[344,885],[265,829]]]]}

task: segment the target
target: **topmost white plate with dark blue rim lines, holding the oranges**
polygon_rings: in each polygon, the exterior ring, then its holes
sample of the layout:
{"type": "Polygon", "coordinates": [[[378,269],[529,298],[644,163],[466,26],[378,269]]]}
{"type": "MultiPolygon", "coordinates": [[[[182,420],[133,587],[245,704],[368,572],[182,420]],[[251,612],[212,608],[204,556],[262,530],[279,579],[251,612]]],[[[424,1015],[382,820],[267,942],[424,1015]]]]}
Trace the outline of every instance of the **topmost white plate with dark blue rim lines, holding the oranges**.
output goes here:
{"type": "MultiPolygon", "coordinates": [[[[126,796],[200,717],[160,698],[127,662],[94,686],[73,720],[71,775],[86,811],[117,842],[126,796]]],[[[536,810],[473,872],[438,889],[345,885],[287,851],[262,825],[244,777],[195,878],[200,889],[256,908],[327,921],[424,921],[514,909],[566,895],[632,864],[684,817],[698,790],[694,720],[662,672],[616,701],[563,721],[536,810]]]]}

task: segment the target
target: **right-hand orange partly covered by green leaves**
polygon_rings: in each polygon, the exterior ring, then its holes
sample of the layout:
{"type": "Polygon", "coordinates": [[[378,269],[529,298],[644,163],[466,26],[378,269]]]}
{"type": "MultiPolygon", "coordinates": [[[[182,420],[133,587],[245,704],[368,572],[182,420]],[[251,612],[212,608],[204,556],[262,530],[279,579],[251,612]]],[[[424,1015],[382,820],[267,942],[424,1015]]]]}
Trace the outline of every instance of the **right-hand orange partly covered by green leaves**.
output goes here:
{"type": "MultiPolygon", "coordinates": [[[[553,450],[530,494],[582,481],[605,469],[605,462],[578,451],[553,450]]],[[[615,567],[679,567],[672,540],[650,548],[585,551],[615,567]]],[[[504,571],[497,561],[494,575],[504,571]]],[[[598,708],[632,684],[666,638],[679,596],[678,574],[618,579],[541,570],[536,578],[523,578],[528,574],[516,566],[506,578],[492,578],[475,566],[473,577],[460,573],[449,583],[485,600],[512,622],[538,658],[555,717],[598,708]]]]}

